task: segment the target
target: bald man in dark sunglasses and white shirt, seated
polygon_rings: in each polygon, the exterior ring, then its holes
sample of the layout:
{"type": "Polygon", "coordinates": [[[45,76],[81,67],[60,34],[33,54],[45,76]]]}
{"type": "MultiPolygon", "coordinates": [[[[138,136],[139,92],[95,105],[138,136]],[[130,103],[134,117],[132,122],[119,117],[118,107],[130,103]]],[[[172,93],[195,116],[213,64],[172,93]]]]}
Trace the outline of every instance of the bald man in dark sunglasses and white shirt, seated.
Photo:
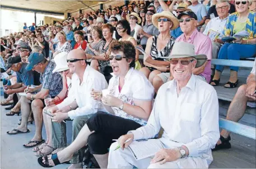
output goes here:
{"type": "MultiPolygon", "coordinates": [[[[63,120],[68,118],[73,120],[73,141],[93,114],[98,111],[106,112],[103,105],[99,104],[90,95],[92,88],[101,91],[108,87],[103,74],[87,65],[86,55],[80,49],[71,50],[68,53],[67,62],[69,72],[74,73],[71,80],[71,90],[74,92],[73,97],[67,97],[62,103],[50,110],[55,112],[52,118],[52,144],[53,148],[58,148],[57,151],[67,147],[66,124],[62,122],[63,120]]],[[[71,159],[73,165],[71,168],[81,167],[84,152],[85,149],[82,148],[73,155],[71,159]]]]}

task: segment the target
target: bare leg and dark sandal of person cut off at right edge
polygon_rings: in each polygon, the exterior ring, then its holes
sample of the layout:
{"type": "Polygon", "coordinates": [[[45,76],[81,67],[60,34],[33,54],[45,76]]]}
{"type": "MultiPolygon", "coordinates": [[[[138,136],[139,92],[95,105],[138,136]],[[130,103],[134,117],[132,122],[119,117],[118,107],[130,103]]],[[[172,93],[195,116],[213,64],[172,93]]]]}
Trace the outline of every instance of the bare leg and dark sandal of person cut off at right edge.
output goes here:
{"type": "MultiPolygon", "coordinates": [[[[252,72],[250,72],[246,84],[243,84],[238,88],[230,106],[227,110],[227,120],[238,122],[243,118],[246,110],[247,102],[256,102],[256,60],[254,61],[252,72]]],[[[221,137],[218,140],[215,149],[227,149],[231,148],[230,144],[230,132],[227,130],[221,130],[221,137]]]]}

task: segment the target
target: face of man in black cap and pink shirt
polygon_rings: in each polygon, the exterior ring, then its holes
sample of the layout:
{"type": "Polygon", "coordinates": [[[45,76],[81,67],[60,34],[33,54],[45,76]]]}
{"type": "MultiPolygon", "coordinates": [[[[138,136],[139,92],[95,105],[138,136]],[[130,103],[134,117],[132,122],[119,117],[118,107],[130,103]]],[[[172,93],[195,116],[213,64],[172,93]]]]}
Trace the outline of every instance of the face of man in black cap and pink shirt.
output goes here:
{"type": "Polygon", "coordinates": [[[191,18],[190,21],[185,21],[186,18],[190,17],[188,15],[184,15],[181,17],[181,20],[183,20],[183,22],[180,22],[180,28],[181,31],[183,31],[185,34],[189,34],[196,29],[197,21],[194,20],[194,18],[191,18]]]}

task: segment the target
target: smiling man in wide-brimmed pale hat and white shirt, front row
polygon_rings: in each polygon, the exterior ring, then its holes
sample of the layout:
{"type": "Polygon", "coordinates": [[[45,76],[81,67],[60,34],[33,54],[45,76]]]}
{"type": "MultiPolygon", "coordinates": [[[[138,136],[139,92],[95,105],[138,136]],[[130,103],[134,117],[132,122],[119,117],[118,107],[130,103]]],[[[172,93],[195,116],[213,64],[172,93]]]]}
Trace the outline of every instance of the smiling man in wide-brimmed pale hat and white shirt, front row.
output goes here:
{"type": "Polygon", "coordinates": [[[217,93],[192,74],[207,57],[195,55],[194,45],[184,42],[175,43],[172,51],[170,71],[174,79],[160,87],[147,125],[129,131],[111,145],[108,168],[208,168],[213,161],[211,148],[220,133],[217,93]],[[161,127],[162,137],[152,139],[161,127]],[[133,141],[140,139],[150,139],[159,146],[148,146],[145,152],[151,153],[143,153],[148,156],[136,160],[127,147],[147,144],[133,141]]]}

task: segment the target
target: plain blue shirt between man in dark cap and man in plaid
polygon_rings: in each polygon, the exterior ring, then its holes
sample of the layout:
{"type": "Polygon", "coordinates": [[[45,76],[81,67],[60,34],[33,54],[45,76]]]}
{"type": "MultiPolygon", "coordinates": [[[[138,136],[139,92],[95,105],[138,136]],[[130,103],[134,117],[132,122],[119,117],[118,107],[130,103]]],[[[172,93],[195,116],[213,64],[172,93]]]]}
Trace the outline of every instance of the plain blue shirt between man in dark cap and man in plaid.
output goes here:
{"type": "Polygon", "coordinates": [[[17,73],[17,83],[23,83],[25,86],[34,84],[34,72],[26,70],[27,63],[22,63],[20,71],[17,73]]]}

